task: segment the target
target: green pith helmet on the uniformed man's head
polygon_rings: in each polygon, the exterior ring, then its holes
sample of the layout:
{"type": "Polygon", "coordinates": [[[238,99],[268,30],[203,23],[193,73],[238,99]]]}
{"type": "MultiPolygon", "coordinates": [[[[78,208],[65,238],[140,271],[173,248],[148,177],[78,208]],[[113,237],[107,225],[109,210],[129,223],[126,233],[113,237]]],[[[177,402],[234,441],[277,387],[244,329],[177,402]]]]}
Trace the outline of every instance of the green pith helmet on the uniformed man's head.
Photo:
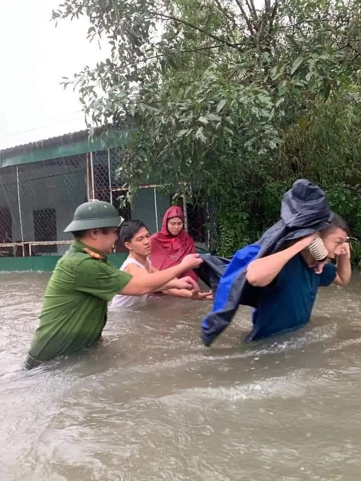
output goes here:
{"type": "Polygon", "coordinates": [[[117,209],[112,204],[94,199],[80,204],[75,209],[73,220],[64,229],[64,232],[118,227],[123,220],[122,217],[119,217],[117,209]]]}

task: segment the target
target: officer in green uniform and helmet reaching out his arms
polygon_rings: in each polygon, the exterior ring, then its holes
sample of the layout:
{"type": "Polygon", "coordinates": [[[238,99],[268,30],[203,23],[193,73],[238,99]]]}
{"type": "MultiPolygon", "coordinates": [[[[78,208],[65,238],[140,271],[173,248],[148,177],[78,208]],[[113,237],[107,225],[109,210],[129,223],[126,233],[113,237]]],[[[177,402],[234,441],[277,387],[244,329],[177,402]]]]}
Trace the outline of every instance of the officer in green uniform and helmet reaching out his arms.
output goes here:
{"type": "Polygon", "coordinates": [[[26,360],[31,369],[43,362],[95,344],[107,321],[107,303],[116,294],[141,296],[164,289],[199,290],[195,281],[175,279],[202,260],[191,254],[175,267],[137,276],[119,271],[107,260],[122,219],[116,208],[93,200],[81,204],[65,232],[75,239],[59,259],[45,290],[36,330],[26,360]]]}

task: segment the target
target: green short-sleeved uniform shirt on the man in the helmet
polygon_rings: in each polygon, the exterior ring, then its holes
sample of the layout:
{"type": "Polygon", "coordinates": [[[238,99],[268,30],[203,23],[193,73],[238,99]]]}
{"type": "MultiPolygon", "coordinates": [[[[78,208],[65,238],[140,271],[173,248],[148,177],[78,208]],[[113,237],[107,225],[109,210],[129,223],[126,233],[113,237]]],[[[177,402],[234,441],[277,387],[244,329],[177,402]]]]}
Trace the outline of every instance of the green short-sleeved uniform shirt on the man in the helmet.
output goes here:
{"type": "Polygon", "coordinates": [[[107,321],[107,303],[130,279],[105,256],[75,240],[57,262],[45,290],[26,367],[97,342],[107,321]]]}

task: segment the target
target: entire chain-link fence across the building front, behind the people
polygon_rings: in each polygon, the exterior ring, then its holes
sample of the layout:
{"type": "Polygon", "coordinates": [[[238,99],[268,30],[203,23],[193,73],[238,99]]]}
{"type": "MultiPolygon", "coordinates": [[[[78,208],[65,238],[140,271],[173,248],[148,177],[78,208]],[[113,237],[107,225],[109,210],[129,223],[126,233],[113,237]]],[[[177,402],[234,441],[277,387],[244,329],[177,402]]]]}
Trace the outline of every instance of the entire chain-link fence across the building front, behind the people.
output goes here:
{"type": "MultiPolygon", "coordinates": [[[[119,179],[120,149],[84,153],[0,168],[0,256],[62,255],[72,242],[64,232],[74,210],[96,198],[111,202],[126,220],[141,219],[150,232],[160,229],[171,195],[160,186],[141,186],[132,203],[119,179]]],[[[186,228],[201,249],[208,249],[208,210],[183,201],[186,228]]],[[[116,246],[116,251],[122,251],[116,246]]]]}

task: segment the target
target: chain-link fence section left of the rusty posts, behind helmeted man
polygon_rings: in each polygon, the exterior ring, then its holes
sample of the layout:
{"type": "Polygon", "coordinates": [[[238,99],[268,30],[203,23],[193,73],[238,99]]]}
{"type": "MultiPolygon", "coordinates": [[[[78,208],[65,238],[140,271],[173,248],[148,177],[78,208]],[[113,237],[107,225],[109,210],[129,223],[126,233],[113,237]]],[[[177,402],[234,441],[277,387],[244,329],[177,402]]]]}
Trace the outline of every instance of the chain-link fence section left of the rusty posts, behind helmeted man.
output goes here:
{"type": "Polygon", "coordinates": [[[86,154],[0,169],[0,255],[63,254],[63,230],[85,200],[86,154]]]}

